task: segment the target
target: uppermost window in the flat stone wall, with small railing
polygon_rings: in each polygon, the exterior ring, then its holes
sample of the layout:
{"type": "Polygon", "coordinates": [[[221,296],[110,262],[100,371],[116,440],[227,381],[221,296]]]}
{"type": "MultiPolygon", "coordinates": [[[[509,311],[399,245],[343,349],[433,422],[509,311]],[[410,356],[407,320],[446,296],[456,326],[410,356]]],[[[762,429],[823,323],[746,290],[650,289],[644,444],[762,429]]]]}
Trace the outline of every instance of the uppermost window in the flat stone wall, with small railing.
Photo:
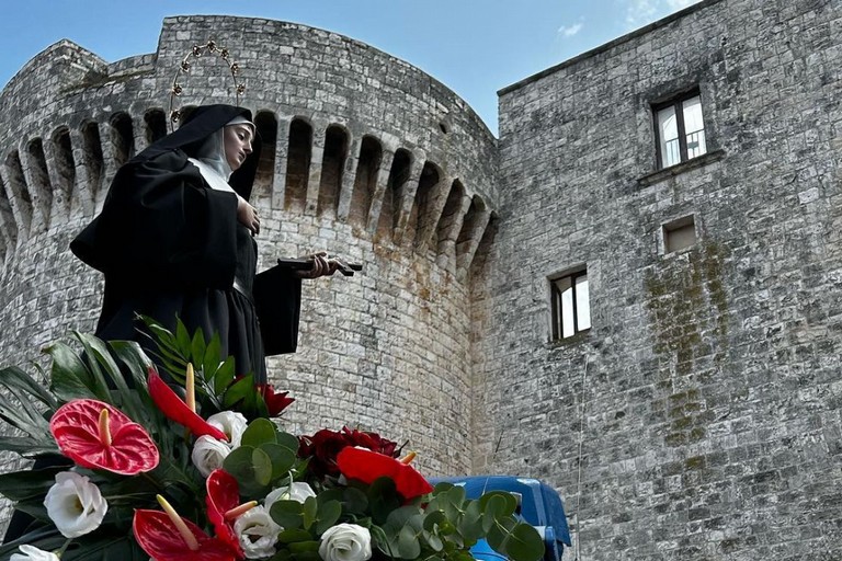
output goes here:
{"type": "Polygon", "coordinates": [[[652,106],[658,167],[669,168],[707,152],[698,91],[652,106]]]}

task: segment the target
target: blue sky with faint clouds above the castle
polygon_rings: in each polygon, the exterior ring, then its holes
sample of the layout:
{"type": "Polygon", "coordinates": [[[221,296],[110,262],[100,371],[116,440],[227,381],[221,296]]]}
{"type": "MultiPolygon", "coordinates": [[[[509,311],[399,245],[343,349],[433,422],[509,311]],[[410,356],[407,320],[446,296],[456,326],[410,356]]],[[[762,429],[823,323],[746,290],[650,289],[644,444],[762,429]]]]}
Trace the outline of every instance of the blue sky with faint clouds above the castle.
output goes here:
{"type": "Polygon", "coordinates": [[[61,38],[112,62],[152,53],[168,15],[260,16],[330,30],[401,58],[454,90],[497,134],[499,89],[696,1],[26,0],[0,19],[0,84],[61,38]]]}

